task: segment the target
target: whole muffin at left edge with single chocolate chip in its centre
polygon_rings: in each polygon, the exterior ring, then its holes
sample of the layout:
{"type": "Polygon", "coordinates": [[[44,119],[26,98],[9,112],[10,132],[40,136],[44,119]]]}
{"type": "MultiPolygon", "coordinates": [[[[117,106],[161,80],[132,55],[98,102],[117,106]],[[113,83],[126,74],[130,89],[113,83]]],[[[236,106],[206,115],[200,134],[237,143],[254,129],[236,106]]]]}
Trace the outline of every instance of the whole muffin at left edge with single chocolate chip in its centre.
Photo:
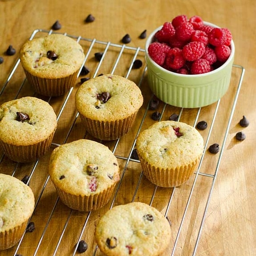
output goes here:
{"type": "Polygon", "coordinates": [[[57,117],[49,103],[24,97],[0,106],[0,146],[16,162],[44,155],[57,129],[57,117]]]}

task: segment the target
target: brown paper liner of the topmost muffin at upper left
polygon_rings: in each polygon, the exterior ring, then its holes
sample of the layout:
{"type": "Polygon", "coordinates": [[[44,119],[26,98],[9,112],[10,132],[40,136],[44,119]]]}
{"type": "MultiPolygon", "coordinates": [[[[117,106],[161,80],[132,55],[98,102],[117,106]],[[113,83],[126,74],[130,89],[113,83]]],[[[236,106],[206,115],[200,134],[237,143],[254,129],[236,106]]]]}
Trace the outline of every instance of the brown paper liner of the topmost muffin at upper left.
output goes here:
{"type": "Polygon", "coordinates": [[[62,78],[47,79],[33,76],[24,69],[26,77],[35,89],[35,91],[44,96],[61,96],[64,95],[69,89],[75,85],[77,81],[77,72],[62,78]]]}

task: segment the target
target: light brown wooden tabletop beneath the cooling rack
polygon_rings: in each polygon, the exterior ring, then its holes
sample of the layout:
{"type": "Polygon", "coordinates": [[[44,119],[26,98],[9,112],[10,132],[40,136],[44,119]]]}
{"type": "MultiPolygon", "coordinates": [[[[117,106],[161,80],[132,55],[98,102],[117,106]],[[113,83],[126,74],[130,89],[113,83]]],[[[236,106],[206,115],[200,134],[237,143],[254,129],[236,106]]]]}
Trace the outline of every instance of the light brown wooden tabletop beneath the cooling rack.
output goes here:
{"type": "MultiPolygon", "coordinates": [[[[18,52],[21,45],[35,29],[49,30],[56,20],[59,20],[62,24],[62,28],[58,32],[89,39],[96,38],[100,41],[111,41],[120,44],[122,37],[129,33],[132,38],[129,46],[141,47],[142,49],[146,40],[139,39],[138,36],[144,29],[149,34],[154,28],[162,25],[165,21],[170,21],[179,14],[199,15],[203,20],[229,28],[232,31],[236,45],[235,64],[242,65],[245,68],[245,76],[195,255],[256,255],[256,158],[255,150],[253,150],[253,146],[256,144],[255,12],[256,2],[254,0],[0,0],[0,56],[4,57],[4,63],[0,65],[0,88],[4,85],[18,59],[18,54],[14,56],[4,54],[8,46],[12,45],[18,52]],[[93,23],[85,24],[84,20],[90,13],[96,19],[93,23]],[[246,128],[238,125],[243,115],[250,121],[250,125],[246,128]],[[241,130],[244,131],[247,137],[243,142],[237,142],[234,136],[236,132],[241,130]]],[[[88,49],[87,42],[82,41],[81,44],[84,49],[88,49]]],[[[97,47],[101,49],[102,46],[97,47]]],[[[144,60],[142,52],[138,54],[138,58],[144,60]]],[[[128,53],[124,63],[118,66],[115,73],[125,76],[130,61],[131,58],[128,53]]],[[[93,71],[95,71],[98,63],[93,62],[92,58],[89,58],[86,63],[88,63],[91,70],[89,76],[96,75],[93,71]]],[[[102,66],[98,74],[111,72],[113,60],[110,60],[109,63],[111,63],[111,67],[108,65],[102,66]]],[[[139,83],[141,76],[142,69],[132,71],[129,78],[139,83]]],[[[239,72],[234,70],[230,89],[221,100],[212,135],[208,142],[209,145],[223,141],[239,76],[239,72]]],[[[0,101],[4,102],[15,98],[17,89],[23,80],[24,73],[18,67],[3,95],[1,95],[0,101]]],[[[78,84],[79,80],[77,80],[77,86],[78,84]]],[[[138,114],[133,129],[120,140],[115,149],[115,154],[120,156],[118,161],[122,171],[125,172],[114,205],[128,203],[133,199],[141,174],[139,163],[130,161],[126,166],[125,160],[133,146],[134,138],[151,95],[147,88],[146,79],[142,81],[141,88],[145,104],[138,114]]],[[[54,138],[55,143],[62,144],[77,138],[83,138],[85,135],[85,130],[78,118],[67,140],[65,137],[76,115],[73,107],[73,93],[75,90],[76,88],[71,93],[67,107],[59,118],[59,126],[54,138]]],[[[27,82],[25,82],[18,97],[26,95],[33,95],[33,89],[27,82]]],[[[50,104],[57,113],[61,110],[61,104],[64,100],[65,97],[50,99],[50,104]]],[[[163,104],[160,105],[160,109],[163,106],[163,104]]],[[[213,104],[202,108],[198,120],[207,120],[211,123],[215,106],[216,104],[213,104]]],[[[179,113],[179,111],[178,108],[167,106],[164,110],[163,119],[167,120],[170,114],[179,113]]],[[[154,122],[150,119],[150,113],[146,115],[142,129],[154,122]]],[[[193,125],[196,114],[197,110],[183,110],[181,121],[193,125]]],[[[207,131],[203,131],[202,135],[206,139],[207,131]]],[[[86,135],[86,138],[89,137],[86,135]]],[[[112,150],[114,149],[114,142],[109,142],[107,145],[112,150]]],[[[15,251],[16,247],[14,247],[0,252],[1,256],[10,256],[14,253],[23,256],[50,256],[54,253],[55,255],[73,255],[80,234],[81,239],[88,243],[88,250],[82,255],[93,255],[95,224],[98,217],[109,209],[110,203],[103,209],[89,215],[88,213],[70,211],[65,207],[57,199],[52,183],[47,180],[49,154],[41,158],[36,166],[35,163],[16,165],[6,158],[3,158],[0,163],[1,173],[14,175],[20,179],[24,175],[31,175],[30,187],[33,189],[36,199],[40,198],[32,217],[36,230],[33,233],[25,234],[17,252],[15,251]],[[89,217],[88,222],[87,217],[89,217]],[[59,238],[64,228],[65,232],[63,232],[60,241],[59,238]],[[60,244],[58,244],[58,241],[60,241],[60,244]],[[56,252],[54,252],[55,248],[56,252]]],[[[214,174],[217,162],[218,155],[212,156],[206,153],[201,171],[214,174]]],[[[172,223],[173,237],[170,248],[168,248],[165,255],[171,255],[193,180],[192,178],[185,185],[176,188],[175,191],[157,188],[154,195],[152,205],[165,214],[169,199],[172,192],[174,192],[167,213],[172,223]]],[[[205,175],[198,176],[173,255],[192,255],[211,184],[212,178],[205,175]]],[[[142,176],[134,199],[150,203],[153,193],[154,186],[142,176]]],[[[99,250],[96,255],[101,255],[99,250]]]]}

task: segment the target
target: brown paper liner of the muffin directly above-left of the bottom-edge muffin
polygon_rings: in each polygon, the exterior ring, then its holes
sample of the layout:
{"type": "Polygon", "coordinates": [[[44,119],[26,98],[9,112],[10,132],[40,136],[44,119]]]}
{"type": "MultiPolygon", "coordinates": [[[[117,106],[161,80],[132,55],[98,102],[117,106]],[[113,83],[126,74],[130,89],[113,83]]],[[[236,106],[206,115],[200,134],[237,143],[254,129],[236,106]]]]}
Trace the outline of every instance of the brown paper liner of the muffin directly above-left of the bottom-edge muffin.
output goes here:
{"type": "Polygon", "coordinates": [[[93,211],[103,207],[106,205],[106,203],[108,203],[111,195],[113,194],[115,186],[116,183],[112,184],[112,186],[98,194],[91,194],[88,196],[72,195],[61,190],[57,186],[55,186],[55,188],[62,203],[64,203],[67,207],[77,211],[93,211]]]}

